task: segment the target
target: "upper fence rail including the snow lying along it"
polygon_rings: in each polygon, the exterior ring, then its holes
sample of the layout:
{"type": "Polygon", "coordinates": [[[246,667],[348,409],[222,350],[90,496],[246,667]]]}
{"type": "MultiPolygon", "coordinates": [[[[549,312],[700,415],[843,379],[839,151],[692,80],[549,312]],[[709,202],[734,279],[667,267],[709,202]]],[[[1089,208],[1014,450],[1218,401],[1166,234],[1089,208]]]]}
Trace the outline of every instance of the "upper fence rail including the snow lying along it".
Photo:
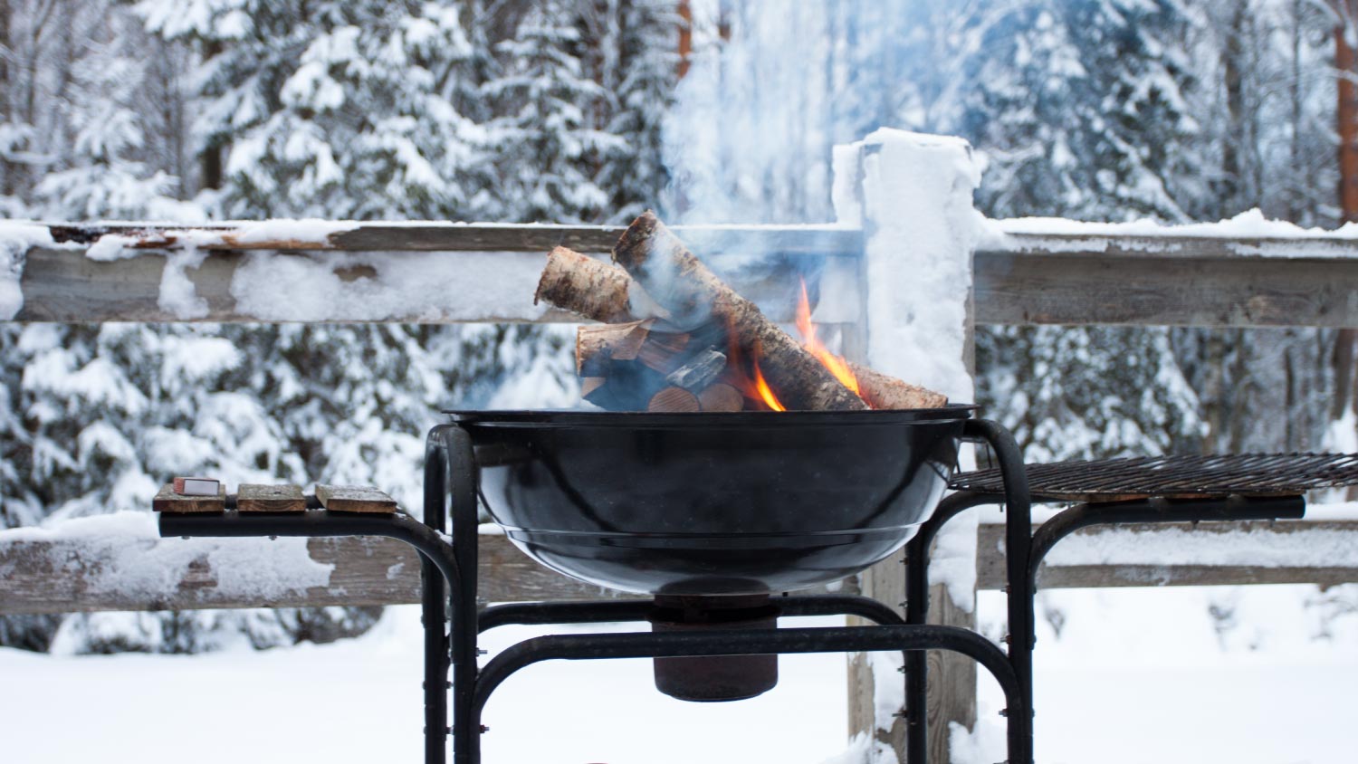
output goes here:
{"type": "MultiPolygon", "coordinates": [[[[774,299],[771,274],[786,277],[788,269],[827,294],[861,293],[858,228],[678,229],[777,318],[790,316],[790,307],[774,299]]],[[[0,251],[8,242],[19,252],[11,271],[22,293],[14,308],[20,322],[574,322],[532,304],[542,254],[557,244],[606,252],[619,232],[610,225],[0,223],[0,251]]],[[[1358,327],[1354,227],[999,220],[986,223],[974,265],[975,320],[983,324],[1358,327]]],[[[860,318],[853,299],[818,308],[824,323],[860,318]]]]}

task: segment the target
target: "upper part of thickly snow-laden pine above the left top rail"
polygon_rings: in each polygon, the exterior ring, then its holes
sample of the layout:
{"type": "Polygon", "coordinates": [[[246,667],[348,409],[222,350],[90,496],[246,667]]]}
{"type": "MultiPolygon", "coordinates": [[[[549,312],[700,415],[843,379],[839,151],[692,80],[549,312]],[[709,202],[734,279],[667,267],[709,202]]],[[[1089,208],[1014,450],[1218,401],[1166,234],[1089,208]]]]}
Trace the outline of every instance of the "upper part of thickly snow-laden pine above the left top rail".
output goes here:
{"type": "Polygon", "coordinates": [[[228,147],[231,217],[469,218],[479,132],[454,107],[470,56],[459,8],[255,3],[185,14],[139,4],[148,28],[205,61],[205,142],[228,147]]]}

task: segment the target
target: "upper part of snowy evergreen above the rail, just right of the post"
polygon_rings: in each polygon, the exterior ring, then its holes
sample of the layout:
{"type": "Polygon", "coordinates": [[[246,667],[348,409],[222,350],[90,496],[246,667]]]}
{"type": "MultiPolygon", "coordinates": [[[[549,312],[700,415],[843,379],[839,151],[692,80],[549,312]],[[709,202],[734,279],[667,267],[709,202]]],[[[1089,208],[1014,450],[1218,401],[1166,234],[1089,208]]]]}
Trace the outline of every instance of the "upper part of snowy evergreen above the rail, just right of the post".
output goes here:
{"type": "Polygon", "coordinates": [[[990,27],[964,134],[990,164],[993,214],[1186,220],[1192,87],[1175,0],[1029,0],[990,27]]]}

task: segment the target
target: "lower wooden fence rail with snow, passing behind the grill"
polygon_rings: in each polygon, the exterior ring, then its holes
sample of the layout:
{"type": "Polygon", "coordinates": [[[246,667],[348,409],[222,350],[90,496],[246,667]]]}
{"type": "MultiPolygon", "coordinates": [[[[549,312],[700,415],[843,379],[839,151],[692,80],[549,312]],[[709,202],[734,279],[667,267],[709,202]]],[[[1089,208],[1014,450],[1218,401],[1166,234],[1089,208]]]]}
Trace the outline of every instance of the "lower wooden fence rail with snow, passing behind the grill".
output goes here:
{"type": "MultiPolygon", "coordinates": [[[[1005,585],[1002,539],[1002,525],[980,525],[979,589],[1005,585]]],[[[1044,589],[1331,586],[1358,582],[1354,539],[1355,520],[1089,528],[1052,551],[1039,582],[1044,589]]],[[[622,596],[543,569],[502,535],[482,535],[479,555],[479,598],[486,603],[622,596]]],[[[399,541],[164,540],[147,513],[0,531],[0,615],[420,601],[418,555],[399,541]]],[[[854,589],[854,579],[846,579],[838,590],[854,589]]]]}

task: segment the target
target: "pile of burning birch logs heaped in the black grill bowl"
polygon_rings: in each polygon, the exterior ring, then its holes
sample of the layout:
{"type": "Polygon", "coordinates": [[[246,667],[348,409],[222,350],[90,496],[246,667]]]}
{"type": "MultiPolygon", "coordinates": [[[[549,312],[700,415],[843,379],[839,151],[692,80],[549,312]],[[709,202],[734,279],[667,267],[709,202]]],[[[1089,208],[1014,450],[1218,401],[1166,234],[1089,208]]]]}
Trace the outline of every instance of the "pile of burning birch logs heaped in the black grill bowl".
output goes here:
{"type": "Polygon", "coordinates": [[[856,364],[846,364],[851,376],[841,379],[712,273],[655,213],[627,227],[612,261],[557,247],[534,297],[600,322],[581,326],[576,337],[581,392],[596,406],[854,411],[947,403],[856,364]]]}

